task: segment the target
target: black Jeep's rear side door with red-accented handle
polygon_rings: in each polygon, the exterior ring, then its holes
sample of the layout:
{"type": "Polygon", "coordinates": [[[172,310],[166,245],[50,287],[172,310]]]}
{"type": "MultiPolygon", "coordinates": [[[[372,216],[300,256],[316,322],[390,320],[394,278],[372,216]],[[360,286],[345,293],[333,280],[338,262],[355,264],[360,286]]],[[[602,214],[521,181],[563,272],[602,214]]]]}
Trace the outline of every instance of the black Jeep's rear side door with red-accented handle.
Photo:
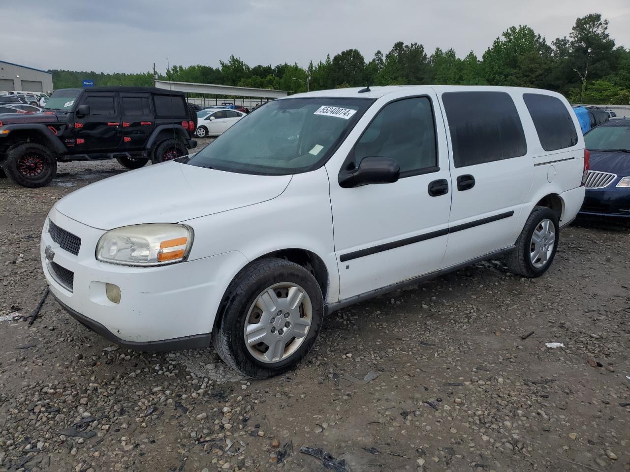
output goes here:
{"type": "Polygon", "coordinates": [[[151,94],[120,93],[123,150],[142,150],[155,129],[151,94]]]}

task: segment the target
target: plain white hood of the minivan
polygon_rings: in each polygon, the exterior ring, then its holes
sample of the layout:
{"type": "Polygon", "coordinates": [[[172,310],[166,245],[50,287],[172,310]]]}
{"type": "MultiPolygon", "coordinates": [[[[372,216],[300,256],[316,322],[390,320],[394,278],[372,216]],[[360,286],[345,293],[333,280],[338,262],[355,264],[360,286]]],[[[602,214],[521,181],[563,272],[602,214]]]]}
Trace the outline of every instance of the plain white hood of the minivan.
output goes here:
{"type": "Polygon", "coordinates": [[[178,223],[280,195],[291,176],[256,176],[164,162],[78,189],[55,208],[79,223],[110,230],[178,223]]]}

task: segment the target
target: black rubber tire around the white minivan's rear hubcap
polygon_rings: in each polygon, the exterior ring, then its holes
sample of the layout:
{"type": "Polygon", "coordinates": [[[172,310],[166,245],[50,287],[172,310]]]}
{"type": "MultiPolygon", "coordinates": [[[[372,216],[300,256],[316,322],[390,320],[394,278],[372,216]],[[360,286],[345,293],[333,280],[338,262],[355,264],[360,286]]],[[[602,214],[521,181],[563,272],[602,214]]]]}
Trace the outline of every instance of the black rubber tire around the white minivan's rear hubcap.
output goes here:
{"type": "MultiPolygon", "coordinates": [[[[510,271],[517,275],[528,278],[540,277],[542,274],[547,272],[547,269],[551,266],[554,257],[556,257],[559,240],[560,226],[558,224],[558,216],[556,213],[546,206],[536,206],[534,210],[532,210],[532,213],[530,213],[529,218],[527,218],[527,222],[525,222],[525,227],[518,236],[516,247],[505,257],[505,263],[510,271]],[[544,265],[537,267],[534,265],[534,262],[532,262],[532,258],[530,257],[530,251],[532,249],[532,236],[534,235],[536,228],[538,228],[544,220],[550,220],[553,223],[555,235],[554,245],[551,250],[551,254],[547,257],[547,261],[544,262],[544,265]]],[[[540,259],[537,260],[539,261],[539,264],[542,264],[540,259]]]]}

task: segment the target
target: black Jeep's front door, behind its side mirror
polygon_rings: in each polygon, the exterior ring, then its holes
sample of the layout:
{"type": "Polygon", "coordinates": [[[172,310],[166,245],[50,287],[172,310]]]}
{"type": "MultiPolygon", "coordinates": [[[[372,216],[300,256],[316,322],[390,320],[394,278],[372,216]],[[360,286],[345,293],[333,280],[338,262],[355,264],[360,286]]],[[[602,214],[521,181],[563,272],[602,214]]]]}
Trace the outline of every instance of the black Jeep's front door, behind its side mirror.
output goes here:
{"type": "Polygon", "coordinates": [[[76,116],[76,149],[115,152],[122,142],[122,123],[115,92],[86,92],[79,105],[89,106],[89,115],[76,116]]]}

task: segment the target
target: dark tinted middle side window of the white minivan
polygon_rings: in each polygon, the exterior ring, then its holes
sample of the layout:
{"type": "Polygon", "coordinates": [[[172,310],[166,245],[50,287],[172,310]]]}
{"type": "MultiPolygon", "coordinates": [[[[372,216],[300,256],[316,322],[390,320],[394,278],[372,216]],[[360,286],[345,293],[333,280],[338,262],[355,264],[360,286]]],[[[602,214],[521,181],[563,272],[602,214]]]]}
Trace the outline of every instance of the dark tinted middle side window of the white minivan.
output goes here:
{"type": "Polygon", "coordinates": [[[442,95],[455,167],[527,154],[516,106],[505,92],[449,92],[442,95]]]}

